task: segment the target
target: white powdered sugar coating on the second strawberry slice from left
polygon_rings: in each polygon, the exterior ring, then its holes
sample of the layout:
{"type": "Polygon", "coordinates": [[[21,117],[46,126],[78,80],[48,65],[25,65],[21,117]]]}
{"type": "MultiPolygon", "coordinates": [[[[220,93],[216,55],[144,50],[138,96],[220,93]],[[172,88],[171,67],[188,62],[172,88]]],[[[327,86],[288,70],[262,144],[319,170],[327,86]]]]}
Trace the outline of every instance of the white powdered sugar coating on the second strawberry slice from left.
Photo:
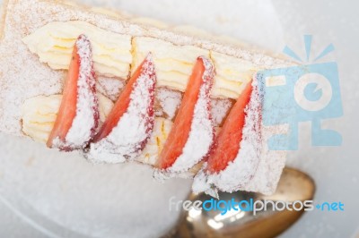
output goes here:
{"type": "Polygon", "coordinates": [[[141,153],[153,130],[155,82],[152,55],[149,54],[133,87],[127,112],[106,138],[91,144],[86,155],[89,159],[121,163],[135,159],[141,153]]]}

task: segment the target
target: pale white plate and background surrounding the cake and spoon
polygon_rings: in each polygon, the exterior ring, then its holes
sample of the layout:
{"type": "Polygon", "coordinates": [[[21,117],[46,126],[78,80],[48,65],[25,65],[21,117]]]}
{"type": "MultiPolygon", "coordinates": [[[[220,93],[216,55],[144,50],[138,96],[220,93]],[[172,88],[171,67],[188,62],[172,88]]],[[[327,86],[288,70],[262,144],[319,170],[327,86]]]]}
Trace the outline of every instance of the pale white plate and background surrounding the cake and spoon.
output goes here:
{"type": "MultiPolygon", "coordinates": [[[[302,123],[300,149],[289,154],[287,164],[311,174],[317,183],[315,200],[341,201],[345,204],[345,211],[306,213],[282,237],[355,235],[359,226],[359,207],[356,204],[359,195],[359,137],[356,134],[359,131],[356,110],[359,100],[359,5],[355,1],[86,2],[118,7],[173,24],[195,25],[274,51],[281,51],[288,45],[301,56],[305,54],[304,34],[313,35],[313,55],[333,43],[336,51],[323,60],[337,61],[344,116],[324,125],[342,133],[343,145],[312,148],[311,123],[302,123]]],[[[188,192],[188,181],[171,181],[162,186],[149,181],[151,173],[143,166],[94,167],[74,154],[60,155],[28,140],[3,134],[0,134],[0,155],[0,189],[4,195],[0,202],[0,234],[7,234],[7,237],[22,237],[24,234],[26,237],[46,237],[35,229],[36,225],[48,225],[50,230],[61,229],[57,225],[63,225],[99,237],[117,236],[121,229],[133,230],[137,236],[156,236],[174,222],[167,219],[169,214],[164,211],[168,198],[171,194],[181,198],[188,192]],[[23,200],[31,208],[22,208],[23,200]],[[129,209],[118,205],[118,200],[136,200],[147,208],[129,209]],[[12,206],[13,209],[9,208],[12,206]],[[25,217],[17,216],[14,210],[22,211],[25,217]],[[57,225],[38,222],[43,218],[41,216],[48,217],[57,225]],[[37,223],[29,225],[31,221],[26,222],[26,217],[37,223]]]]}

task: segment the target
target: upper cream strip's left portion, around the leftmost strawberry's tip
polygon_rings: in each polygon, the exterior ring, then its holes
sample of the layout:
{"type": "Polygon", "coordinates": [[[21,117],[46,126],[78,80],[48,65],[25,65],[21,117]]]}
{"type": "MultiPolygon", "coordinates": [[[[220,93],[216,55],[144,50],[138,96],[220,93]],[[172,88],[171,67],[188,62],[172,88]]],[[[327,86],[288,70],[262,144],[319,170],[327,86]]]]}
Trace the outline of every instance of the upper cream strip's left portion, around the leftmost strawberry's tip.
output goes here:
{"type": "Polygon", "coordinates": [[[92,43],[95,72],[127,79],[132,62],[131,36],[102,30],[85,21],[53,21],[22,39],[42,63],[57,70],[67,70],[74,42],[85,34],[92,43]],[[39,40],[41,39],[41,40],[39,40]]]}

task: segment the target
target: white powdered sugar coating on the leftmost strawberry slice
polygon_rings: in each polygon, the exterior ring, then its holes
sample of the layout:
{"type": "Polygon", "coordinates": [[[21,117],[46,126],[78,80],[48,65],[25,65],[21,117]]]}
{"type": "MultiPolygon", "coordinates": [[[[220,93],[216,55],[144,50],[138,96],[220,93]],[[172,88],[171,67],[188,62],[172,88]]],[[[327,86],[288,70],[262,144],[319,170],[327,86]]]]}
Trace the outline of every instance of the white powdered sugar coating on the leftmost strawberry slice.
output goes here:
{"type": "Polygon", "coordinates": [[[53,146],[56,148],[80,149],[87,142],[99,125],[99,101],[96,95],[96,80],[92,65],[92,48],[89,39],[81,35],[75,46],[79,55],[79,78],[77,81],[76,115],[66,141],[56,138],[53,146]]]}

